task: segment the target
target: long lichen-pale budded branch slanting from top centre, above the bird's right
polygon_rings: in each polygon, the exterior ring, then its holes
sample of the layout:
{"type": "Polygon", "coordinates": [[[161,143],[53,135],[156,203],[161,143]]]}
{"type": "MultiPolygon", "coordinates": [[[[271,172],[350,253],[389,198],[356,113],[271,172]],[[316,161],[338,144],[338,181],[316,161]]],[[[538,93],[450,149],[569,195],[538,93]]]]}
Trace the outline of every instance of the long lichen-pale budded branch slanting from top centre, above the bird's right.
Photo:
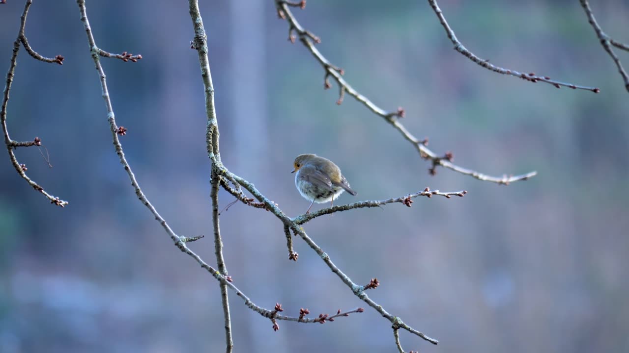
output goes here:
{"type": "MultiPolygon", "coordinates": [[[[452,163],[452,158],[447,158],[447,156],[439,156],[437,153],[431,151],[426,147],[427,141],[420,140],[413,136],[404,125],[399,122],[399,117],[404,116],[404,109],[399,108],[397,111],[387,112],[379,106],[376,106],[374,102],[369,100],[364,95],[360,94],[357,90],[353,89],[353,87],[343,79],[343,70],[342,68],[336,67],[332,65],[328,59],[326,59],[321,52],[315,47],[315,43],[319,41],[319,38],[314,36],[309,31],[305,30],[301,24],[297,21],[295,16],[292,14],[289,6],[286,1],[283,0],[275,0],[277,13],[281,18],[285,18],[288,22],[289,33],[293,31],[298,34],[299,41],[306,46],[306,49],[315,57],[315,59],[321,64],[323,70],[325,70],[325,87],[329,88],[330,84],[328,83],[328,78],[332,77],[340,89],[340,100],[344,94],[351,95],[354,99],[358,100],[362,103],[367,109],[372,111],[377,116],[382,117],[386,122],[391,124],[394,129],[398,130],[399,133],[402,134],[403,138],[406,139],[409,143],[413,145],[415,149],[417,149],[420,157],[425,160],[430,160],[432,162],[432,168],[430,168],[431,174],[434,174],[435,166],[443,166],[443,168],[447,168],[450,170],[454,170],[458,173],[462,173],[464,175],[472,176],[478,180],[482,180],[485,182],[493,182],[502,185],[508,185],[509,183],[518,182],[520,180],[527,180],[532,176],[537,175],[537,171],[532,171],[530,173],[526,173],[523,175],[516,176],[490,176],[483,173],[479,173],[478,171],[470,170],[467,168],[463,168],[462,166],[458,166],[452,163]]],[[[290,34],[289,34],[290,36],[290,34]]],[[[292,37],[291,37],[292,38],[292,37]]],[[[340,102],[338,102],[340,104],[340,102]]]]}

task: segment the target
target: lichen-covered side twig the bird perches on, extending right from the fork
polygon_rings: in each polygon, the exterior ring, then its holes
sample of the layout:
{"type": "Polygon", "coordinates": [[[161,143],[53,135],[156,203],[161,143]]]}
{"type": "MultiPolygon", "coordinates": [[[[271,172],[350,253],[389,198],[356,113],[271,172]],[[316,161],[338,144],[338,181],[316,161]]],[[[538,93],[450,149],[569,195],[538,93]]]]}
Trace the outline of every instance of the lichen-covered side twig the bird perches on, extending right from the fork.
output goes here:
{"type": "Polygon", "coordinates": [[[381,205],[394,204],[396,202],[399,202],[408,207],[411,207],[411,204],[413,204],[412,199],[418,196],[425,196],[425,197],[430,198],[436,195],[436,196],[443,196],[445,198],[450,198],[452,196],[463,197],[466,193],[467,191],[465,190],[455,191],[455,192],[440,192],[439,190],[430,190],[430,188],[425,188],[424,190],[420,192],[411,193],[409,195],[401,196],[401,197],[388,198],[387,200],[359,201],[359,202],[354,202],[353,204],[326,207],[325,209],[320,209],[320,210],[317,210],[316,212],[298,215],[292,220],[296,224],[301,225],[301,224],[305,224],[306,222],[309,222],[312,219],[315,219],[316,217],[320,217],[326,214],[333,214],[334,212],[342,212],[342,211],[353,210],[353,209],[362,209],[364,207],[380,207],[381,205]]]}

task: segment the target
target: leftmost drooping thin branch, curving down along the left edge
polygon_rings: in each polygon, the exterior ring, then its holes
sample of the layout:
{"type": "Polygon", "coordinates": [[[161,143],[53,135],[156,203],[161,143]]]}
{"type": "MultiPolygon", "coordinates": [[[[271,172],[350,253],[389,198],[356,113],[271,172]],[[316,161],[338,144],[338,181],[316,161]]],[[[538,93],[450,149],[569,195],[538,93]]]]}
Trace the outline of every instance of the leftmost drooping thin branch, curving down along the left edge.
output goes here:
{"type": "Polygon", "coordinates": [[[20,18],[18,36],[16,40],[13,42],[13,55],[11,55],[11,64],[9,65],[9,71],[6,73],[6,85],[4,86],[2,106],[0,106],[0,124],[2,124],[2,129],[3,129],[3,134],[4,134],[4,144],[6,145],[6,150],[9,153],[9,160],[11,160],[11,164],[13,165],[13,168],[15,168],[15,170],[18,172],[19,176],[21,176],[24,180],[26,180],[26,182],[29,185],[31,185],[31,187],[33,187],[38,192],[41,192],[46,198],[48,198],[51,204],[54,204],[60,207],[65,207],[65,205],[68,204],[67,201],[60,200],[60,198],[54,197],[53,195],[50,195],[49,193],[45,192],[45,190],[43,190],[43,187],[41,187],[38,183],[31,180],[31,178],[29,178],[28,175],[26,175],[25,173],[26,168],[18,162],[18,159],[13,153],[13,149],[18,146],[38,146],[39,138],[35,138],[35,140],[33,140],[33,144],[31,144],[30,142],[21,143],[18,141],[13,141],[13,139],[11,139],[11,137],[9,136],[9,129],[7,128],[7,124],[6,124],[6,107],[7,107],[7,104],[9,103],[9,91],[11,91],[11,84],[13,84],[13,77],[15,75],[15,67],[18,65],[19,44],[21,43],[21,38],[24,36],[24,29],[26,26],[26,15],[28,14],[28,9],[30,8],[32,3],[33,3],[32,0],[26,1],[26,4],[24,6],[24,11],[20,18]]]}

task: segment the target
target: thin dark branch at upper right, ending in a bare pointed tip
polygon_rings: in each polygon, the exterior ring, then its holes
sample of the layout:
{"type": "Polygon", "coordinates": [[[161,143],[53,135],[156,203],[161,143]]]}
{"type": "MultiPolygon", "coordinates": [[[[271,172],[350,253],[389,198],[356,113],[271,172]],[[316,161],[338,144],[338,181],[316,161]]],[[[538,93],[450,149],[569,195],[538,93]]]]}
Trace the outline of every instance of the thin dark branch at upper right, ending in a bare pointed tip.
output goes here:
{"type": "Polygon", "coordinates": [[[493,65],[489,63],[489,60],[482,60],[481,58],[474,55],[474,53],[467,50],[467,48],[465,48],[465,46],[457,39],[457,36],[454,34],[454,31],[452,30],[452,28],[450,28],[450,26],[448,25],[448,22],[445,20],[445,17],[443,16],[441,9],[437,5],[437,0],[428,0],[428,4],[430,4],[431,8],[433,8],[433,10],[435,11],[435,14],[437,14],[437,18],[439,18],[439,21],[441,22],[443,29],[447,33],[448,38],[450,38],[450,41],[452,41],[452,44],[454,44],[454,50],[463,54],[464,57],[469,58],[469,60],[472,60],[472,62],[475,62],[478,65],[481,65],[487,70],[502,73],[503,75],[511,75],[515,77],[520,77],[520,79],[526,80],[528,82],[533,82],[533,83],[545,82],[547,84],[554,85],[557,88],[564,86],[564,87],[569,87],[571,89],[591,90],[594,93],[601,92],[601,90],[596,87],[586,87],[586,86],[580,86],[580,85],[574,85],[574,84],[567,84],[565,82],[551,80],[550,77],[548,76],[535,75],[535,73],[518,72],[516,70],[509,70],[507,68],[502,68],[502,67],[493,65]]]}

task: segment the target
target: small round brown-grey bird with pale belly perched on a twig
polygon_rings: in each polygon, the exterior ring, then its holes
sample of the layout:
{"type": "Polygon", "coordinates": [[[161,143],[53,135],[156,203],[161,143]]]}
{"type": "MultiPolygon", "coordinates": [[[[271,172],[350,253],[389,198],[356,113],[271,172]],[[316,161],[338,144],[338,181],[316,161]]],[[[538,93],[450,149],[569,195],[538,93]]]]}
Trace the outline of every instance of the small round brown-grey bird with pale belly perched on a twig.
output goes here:
{"type": "Polygon", "coordinates": [[[345,176],[341,174],[341,169],[327,158],[317,155],[299,155],[292,165],[294,170],[291,173],[297,172],[295,175],[297,190],[306,200],[312,201],[306,214],[310,213],[315,202],[323,204],[330,201],[331,207],[334,200],[344,190],[356,195],[345,176]]]}

